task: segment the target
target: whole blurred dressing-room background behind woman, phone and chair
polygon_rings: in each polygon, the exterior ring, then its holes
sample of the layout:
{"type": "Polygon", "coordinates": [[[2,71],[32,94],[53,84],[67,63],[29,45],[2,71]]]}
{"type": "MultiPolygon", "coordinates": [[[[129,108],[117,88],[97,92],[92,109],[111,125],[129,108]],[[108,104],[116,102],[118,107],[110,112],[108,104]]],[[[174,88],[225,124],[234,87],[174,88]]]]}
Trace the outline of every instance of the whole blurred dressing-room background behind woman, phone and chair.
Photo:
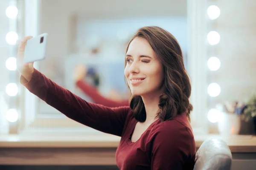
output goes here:
{"type": "Polygon", "coordinates": [[[160,26],[183,51],[197,146],[224,139],[233,170],[256,169],[255,0],[0,0],[0,23],[0,168],[116,169],[118,137],[68,119],[20,85],[20,39],[48,33],[35,68],[64,88],[90,102],[127,101],[126,46],[138,28],[160,26]]]}

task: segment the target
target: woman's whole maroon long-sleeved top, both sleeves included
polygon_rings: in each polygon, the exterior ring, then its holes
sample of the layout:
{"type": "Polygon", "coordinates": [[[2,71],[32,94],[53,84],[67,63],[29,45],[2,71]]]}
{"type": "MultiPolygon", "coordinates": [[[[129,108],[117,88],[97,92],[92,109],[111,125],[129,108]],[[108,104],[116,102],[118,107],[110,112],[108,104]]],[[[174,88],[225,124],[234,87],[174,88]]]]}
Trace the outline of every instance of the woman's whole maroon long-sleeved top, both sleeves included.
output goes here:
{"type": "Polygon", "coordinates": [[[132,142],[137,120],[128,106],[110,108],[86,102],[36,69],[29,82],[23,76],[20,82],[70,119],[121,136],[116,150],[116,163],[121,170],[192,170],[194,167],[195,140],[185,114],[164,122],[156,120],[140,139],[132,142]]]}

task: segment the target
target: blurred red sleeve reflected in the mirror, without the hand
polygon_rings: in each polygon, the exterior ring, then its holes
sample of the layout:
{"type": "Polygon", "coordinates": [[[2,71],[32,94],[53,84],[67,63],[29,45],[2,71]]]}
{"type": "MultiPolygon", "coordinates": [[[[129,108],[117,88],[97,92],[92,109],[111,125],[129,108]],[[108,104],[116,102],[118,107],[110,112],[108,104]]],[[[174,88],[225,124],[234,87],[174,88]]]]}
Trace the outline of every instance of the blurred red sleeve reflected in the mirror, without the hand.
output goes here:
{"type": "Polygon", "coordinates": [[[93,102],[97,104],[108,106],[108,107],[119,107],[119,106],[129,105],[128,100],[114,101],[114,100],[105,98],[104,96],[99,94],[96,88],[88,85],[86,82],[82,80],[77,81],[76,86],[80,88],[84,92],[84,94],[88,95],[93,100],[93,102]]]}

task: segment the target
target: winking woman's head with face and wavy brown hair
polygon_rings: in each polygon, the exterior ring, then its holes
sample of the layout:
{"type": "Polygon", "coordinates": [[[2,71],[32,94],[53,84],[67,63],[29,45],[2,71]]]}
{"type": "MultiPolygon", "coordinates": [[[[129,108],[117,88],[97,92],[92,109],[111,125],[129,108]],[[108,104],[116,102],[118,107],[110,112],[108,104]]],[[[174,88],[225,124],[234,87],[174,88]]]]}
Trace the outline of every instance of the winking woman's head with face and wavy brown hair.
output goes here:
{"type": "Polygon", "coordinates": [[[140,122],[154,117],[155,112],[162,121],[182,113],[190,120],[191,85],[180,45],[168,31],[159,27],[137,31],[126,50],[125,77],[133,95],[131,108],[140,122]],[[157,101],[160,111],[158,107],[146,111],[147,100],[157,101]]]}

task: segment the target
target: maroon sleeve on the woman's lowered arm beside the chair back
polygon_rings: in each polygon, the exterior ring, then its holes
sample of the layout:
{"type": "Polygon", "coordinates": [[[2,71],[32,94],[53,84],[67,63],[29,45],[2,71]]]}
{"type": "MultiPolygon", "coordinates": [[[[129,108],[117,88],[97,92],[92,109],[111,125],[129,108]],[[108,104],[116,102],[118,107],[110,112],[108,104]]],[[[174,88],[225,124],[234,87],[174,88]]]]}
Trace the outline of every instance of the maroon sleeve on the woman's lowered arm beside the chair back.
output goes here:
{"type": "Polygon", "coordinates": [[[191,146],[195,145],[194,136],[180,122],[163,122],[152,138],[151,170],[193,169],[191,146]]]}

